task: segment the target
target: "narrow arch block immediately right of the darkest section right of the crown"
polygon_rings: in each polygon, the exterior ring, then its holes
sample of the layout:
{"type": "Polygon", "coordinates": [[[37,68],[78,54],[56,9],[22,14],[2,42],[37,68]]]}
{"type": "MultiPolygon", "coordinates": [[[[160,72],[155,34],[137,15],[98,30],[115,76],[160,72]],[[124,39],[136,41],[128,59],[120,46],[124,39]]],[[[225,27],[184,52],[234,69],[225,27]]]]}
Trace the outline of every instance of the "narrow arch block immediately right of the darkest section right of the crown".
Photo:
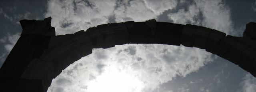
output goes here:
{"type": "Polygon", "coordinates": [[[194,46],[195,34],[198,26],[186,24],[182,31],[181,44],[186,47],[194,46]]]}

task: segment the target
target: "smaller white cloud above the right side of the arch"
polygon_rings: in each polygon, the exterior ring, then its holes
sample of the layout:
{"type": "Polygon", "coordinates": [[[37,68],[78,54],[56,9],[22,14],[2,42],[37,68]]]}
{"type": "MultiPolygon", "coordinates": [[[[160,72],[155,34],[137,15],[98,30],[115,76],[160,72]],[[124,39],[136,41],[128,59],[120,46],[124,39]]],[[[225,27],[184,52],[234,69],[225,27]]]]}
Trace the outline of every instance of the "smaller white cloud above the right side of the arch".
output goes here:
{"type": "Polygon", "coordinates": [[[225,6],[222,0],[195,0],[188,7],[188,11],[180,9],[177,13],[168,14],[174,23],[195,24],[225,32],[229,35],[234,33],[231,21],[230,8],[225,6]],[[202,14],[202,20],[200,18],[202,14]]]}

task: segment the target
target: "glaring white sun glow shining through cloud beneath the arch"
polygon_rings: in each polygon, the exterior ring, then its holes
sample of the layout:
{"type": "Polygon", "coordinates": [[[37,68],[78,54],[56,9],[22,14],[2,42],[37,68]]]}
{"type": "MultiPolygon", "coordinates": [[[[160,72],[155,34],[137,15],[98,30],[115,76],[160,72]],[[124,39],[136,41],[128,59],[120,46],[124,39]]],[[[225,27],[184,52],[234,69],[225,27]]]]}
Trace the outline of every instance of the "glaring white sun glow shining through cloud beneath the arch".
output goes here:
{"type": "Polygon", "coordinates": [[[127,71],[113,66],[88,84],[88,92],[141,92],[143,83],[127,71]]]}

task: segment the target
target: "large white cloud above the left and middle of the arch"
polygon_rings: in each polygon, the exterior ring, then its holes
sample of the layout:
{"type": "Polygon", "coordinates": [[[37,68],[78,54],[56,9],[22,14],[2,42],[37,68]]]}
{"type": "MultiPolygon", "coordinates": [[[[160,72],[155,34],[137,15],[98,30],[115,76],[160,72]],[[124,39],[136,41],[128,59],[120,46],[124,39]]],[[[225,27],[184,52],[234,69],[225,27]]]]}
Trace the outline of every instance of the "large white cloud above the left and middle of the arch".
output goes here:
{"type": "Polygon", "coordinates": [[[50,0],[44,16],[52,17],[52,26],[60,35],[106,24],[111,16],[116,22],[149,20],[177,4],[177,1],[163,1],[156,3],[161,6],[156,6],[152,0],[50,0]]]}

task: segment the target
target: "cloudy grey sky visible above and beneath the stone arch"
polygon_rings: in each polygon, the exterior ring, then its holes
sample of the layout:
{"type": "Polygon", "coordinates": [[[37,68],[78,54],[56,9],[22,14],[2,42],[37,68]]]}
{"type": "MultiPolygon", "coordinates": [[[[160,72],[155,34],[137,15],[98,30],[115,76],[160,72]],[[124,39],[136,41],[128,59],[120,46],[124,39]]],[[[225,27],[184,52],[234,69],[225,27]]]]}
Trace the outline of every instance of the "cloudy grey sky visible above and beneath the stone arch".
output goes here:
{"type": "MultiPolygon", "coordinates": [[[[19,20],[49,16],[56,35],[156,19],[242,36],[256,22],[256,0],[1,0],[0,67],[20,37],[19,20]]],[[[256,92],[256,78],[198,48],[126,44],[93,49],[53,79],[48,92],[256,92]]]]}

